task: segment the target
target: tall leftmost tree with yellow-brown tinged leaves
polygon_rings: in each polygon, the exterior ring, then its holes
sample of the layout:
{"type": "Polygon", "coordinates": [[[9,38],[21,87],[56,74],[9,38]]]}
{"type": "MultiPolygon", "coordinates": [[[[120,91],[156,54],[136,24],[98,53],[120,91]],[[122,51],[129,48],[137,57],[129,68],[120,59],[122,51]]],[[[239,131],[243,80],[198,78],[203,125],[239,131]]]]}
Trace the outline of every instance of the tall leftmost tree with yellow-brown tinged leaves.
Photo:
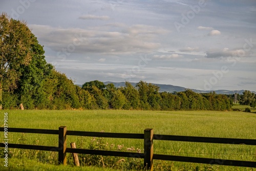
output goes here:
{"type": "Polygon", "coordinates": [[[0,109],[3,89],[15,88],[20,75],[17,70],[32,59],[32,44],[33,34],[25,22],[10,19],[5,13],[0,15],[0,109]]]}

